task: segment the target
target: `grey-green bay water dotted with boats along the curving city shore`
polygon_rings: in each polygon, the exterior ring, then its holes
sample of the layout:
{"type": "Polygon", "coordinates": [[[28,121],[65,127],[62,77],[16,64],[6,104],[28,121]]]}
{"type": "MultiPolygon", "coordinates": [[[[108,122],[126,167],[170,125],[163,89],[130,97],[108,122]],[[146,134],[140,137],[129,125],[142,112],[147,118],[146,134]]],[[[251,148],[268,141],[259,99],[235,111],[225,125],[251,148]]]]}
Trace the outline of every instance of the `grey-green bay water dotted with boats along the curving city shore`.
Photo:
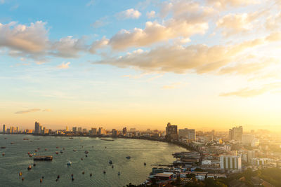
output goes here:
{"type": "Polygon", "coordinates": [[[41,137],[23,134],[0,134],[0,186],[126,186],[142,183],[152,165],[170,164],[171,155],[184,148],[158,141],[115,139],[103,141],[90,137],[41,137]],[[5,139],[7,138],[7,139],[5,139]],[[27,138],[29,140],[23,140],[27,138]],[[11,144],[14,142],[14,144],[11,144]],[[56,148],[58,146],[58,148],[56,148]],[[106,147],[106,148],[105,148],[106,147]],[[38,152],[34,152],[40,148],[38,152]],[[47,151],[45,151],[47,148],[47,151]],[[63,153],[60,153],[61,150],[63,153]],[[74,152],[73,149],[77,151],[74,152]],[[55,152],[58,151],[58,155],[55,152]],[[88,157],[85,151],[89,151],[88,157]],[[53,155],[52,161],[36,161],[27,152],[53,155]],[[5,153],[2,156],[2,153],[5,153]],[[126,159],[130,155],[131,159],[126,159]],[[81,160],[83,158],[83,160],[81,160]],[[112,160],[114,168],[108,163],[112,160]],[[72,165],[67,166],[67,161],[72,165]],[[143,163],[146,162],[146,166],[143,163]],[[32,165],[30,171],[28,165],[32,165]],[[106,174],[103,174],[103,170],[106,174]],[[22,176],[19,176],[22,172],[22,176]],[[82,174],[84,172],[84,174],[82,174]],[[118,172],[121,172],[118,175],[118,172]],[[93,176],[90,176],[90,173],[93,176]],[[74,175],[72,181],[71,174],[74,175]],[[57,176],[60,179],[56,181],[57,176]],[[41,177],[44,176],[42,183],[41,177]],[[22,181],[21,178],[25,180],[22,181]]]}

